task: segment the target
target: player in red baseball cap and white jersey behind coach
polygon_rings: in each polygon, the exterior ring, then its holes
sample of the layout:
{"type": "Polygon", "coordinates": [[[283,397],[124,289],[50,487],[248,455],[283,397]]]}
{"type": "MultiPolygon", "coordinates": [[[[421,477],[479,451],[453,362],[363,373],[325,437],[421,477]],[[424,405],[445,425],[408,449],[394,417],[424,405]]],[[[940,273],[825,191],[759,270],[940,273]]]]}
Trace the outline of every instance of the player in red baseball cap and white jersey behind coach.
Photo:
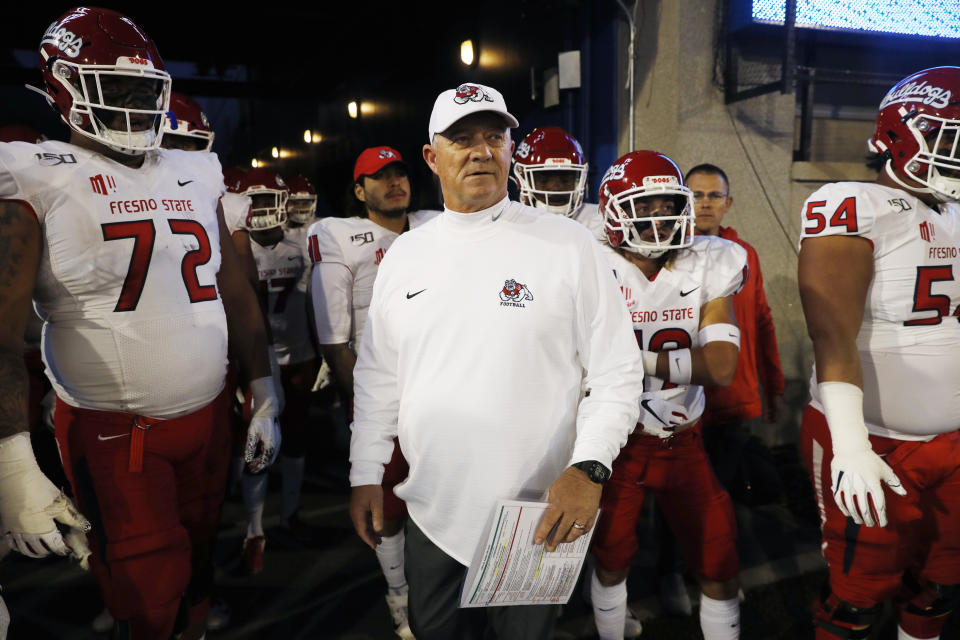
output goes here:
{"type": "MultiPolygon", "coordinates": [[[[380,261],[401,233],[436,215],[427,211],[408,213],[409,173],[395,149],[364,150],[354,165],[353,179],[354,196],[363,203],[366,217],[323,218],[313,223],[307,234],[313,261],[310,295],[314,329],[345,406],[353,404],[356,349],[380,261]]],[[[383,476],[384,527],[376,552],[387,580],[387,605],[395,631],[402,638],[413,637],[407,622],[407,581],[403,573],[407,513],[393,487],[407,477],[407,471],[406,460],[395,442],[393,459],[383,476]]]]}

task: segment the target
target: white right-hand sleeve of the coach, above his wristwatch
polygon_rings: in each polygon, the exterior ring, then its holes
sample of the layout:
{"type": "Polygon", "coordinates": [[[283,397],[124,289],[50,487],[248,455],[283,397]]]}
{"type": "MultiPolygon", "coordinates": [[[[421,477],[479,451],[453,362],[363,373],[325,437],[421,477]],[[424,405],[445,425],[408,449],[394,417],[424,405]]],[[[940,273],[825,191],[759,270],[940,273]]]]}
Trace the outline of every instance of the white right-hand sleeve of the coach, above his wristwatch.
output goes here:
{"type": "Polygon", "coordinates": [[[630,314],[600,245],[585,236],[577,291],[577,350],[590,395],[580,402],[571,462],[610,468],[640,415],[643,360],[630,314]]]}

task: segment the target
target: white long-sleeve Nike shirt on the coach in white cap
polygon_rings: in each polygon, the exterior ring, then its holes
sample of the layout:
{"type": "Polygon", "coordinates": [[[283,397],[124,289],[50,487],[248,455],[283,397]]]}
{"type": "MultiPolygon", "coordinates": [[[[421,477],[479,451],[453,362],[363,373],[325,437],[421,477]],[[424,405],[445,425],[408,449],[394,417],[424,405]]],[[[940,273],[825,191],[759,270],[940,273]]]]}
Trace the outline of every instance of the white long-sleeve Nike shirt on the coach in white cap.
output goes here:
{"type": "Polygon", "coordinates": [[[399,434],[410,475],[396,494],[469,564],[498,499],[541,498],[572,462],[612,466],[642,390],[623,296],[587,229],[507,199],[445,210],[380,265],[350,482],[379,484],[399,434]]]}

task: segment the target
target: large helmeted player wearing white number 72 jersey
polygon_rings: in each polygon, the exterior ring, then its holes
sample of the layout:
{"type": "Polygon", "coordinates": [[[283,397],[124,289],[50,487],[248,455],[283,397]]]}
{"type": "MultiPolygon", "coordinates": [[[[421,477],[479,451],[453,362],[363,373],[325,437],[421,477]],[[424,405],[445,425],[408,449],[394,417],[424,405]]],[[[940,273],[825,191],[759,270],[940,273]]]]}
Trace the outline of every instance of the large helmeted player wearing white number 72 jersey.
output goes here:
{"type": "MultiPolygon", "coordinates": [[[[17,345],[0,366],[11,390],[3,414],[25,424],[16,390],[32,292],[57,442],[93,525],[91,570],[117,633],[165,640],[183,607],[183,637],[199,637],[207,601],[191,584],[191,543],[212,535],[222,499],[215,423],[226,418],[228,336],[254,398],[251,467],[270,464],[280,440],[256,298],[221,241],[220,165],[157,149],[170,76],[129,18],[72,9],[44,33],[40,55],[42,93],[70,142],[0,144],[0,238],[11,248],[0,252],[0,335],[17,345]]],[[[0,499],[13,539],[43,533],[37,517],[56,533],[50,487],[27,473],[0,483],[14,488],[16,500],[0,499]]]]}

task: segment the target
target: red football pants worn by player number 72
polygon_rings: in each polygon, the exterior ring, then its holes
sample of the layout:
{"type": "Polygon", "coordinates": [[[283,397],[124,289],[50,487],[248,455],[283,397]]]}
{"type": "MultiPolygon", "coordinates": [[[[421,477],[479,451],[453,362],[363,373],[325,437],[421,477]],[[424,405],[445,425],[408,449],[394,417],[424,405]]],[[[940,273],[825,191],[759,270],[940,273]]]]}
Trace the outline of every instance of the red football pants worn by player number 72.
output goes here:
{"type": "Polygon", "coordinates": [[[57,399],[57,443],[90,520],[90,567],[104,602],[134,638],[167,640],[190,581],[191,544],[216,532],[229,464],[227,395],[153,423],[57,399]],[[142,423],[143,421],[141,421],[142,423]],[[131,446],[143,431],[142,454],[131,446]],[[142,468],[131,471],[135,458],[142,468]]]}

